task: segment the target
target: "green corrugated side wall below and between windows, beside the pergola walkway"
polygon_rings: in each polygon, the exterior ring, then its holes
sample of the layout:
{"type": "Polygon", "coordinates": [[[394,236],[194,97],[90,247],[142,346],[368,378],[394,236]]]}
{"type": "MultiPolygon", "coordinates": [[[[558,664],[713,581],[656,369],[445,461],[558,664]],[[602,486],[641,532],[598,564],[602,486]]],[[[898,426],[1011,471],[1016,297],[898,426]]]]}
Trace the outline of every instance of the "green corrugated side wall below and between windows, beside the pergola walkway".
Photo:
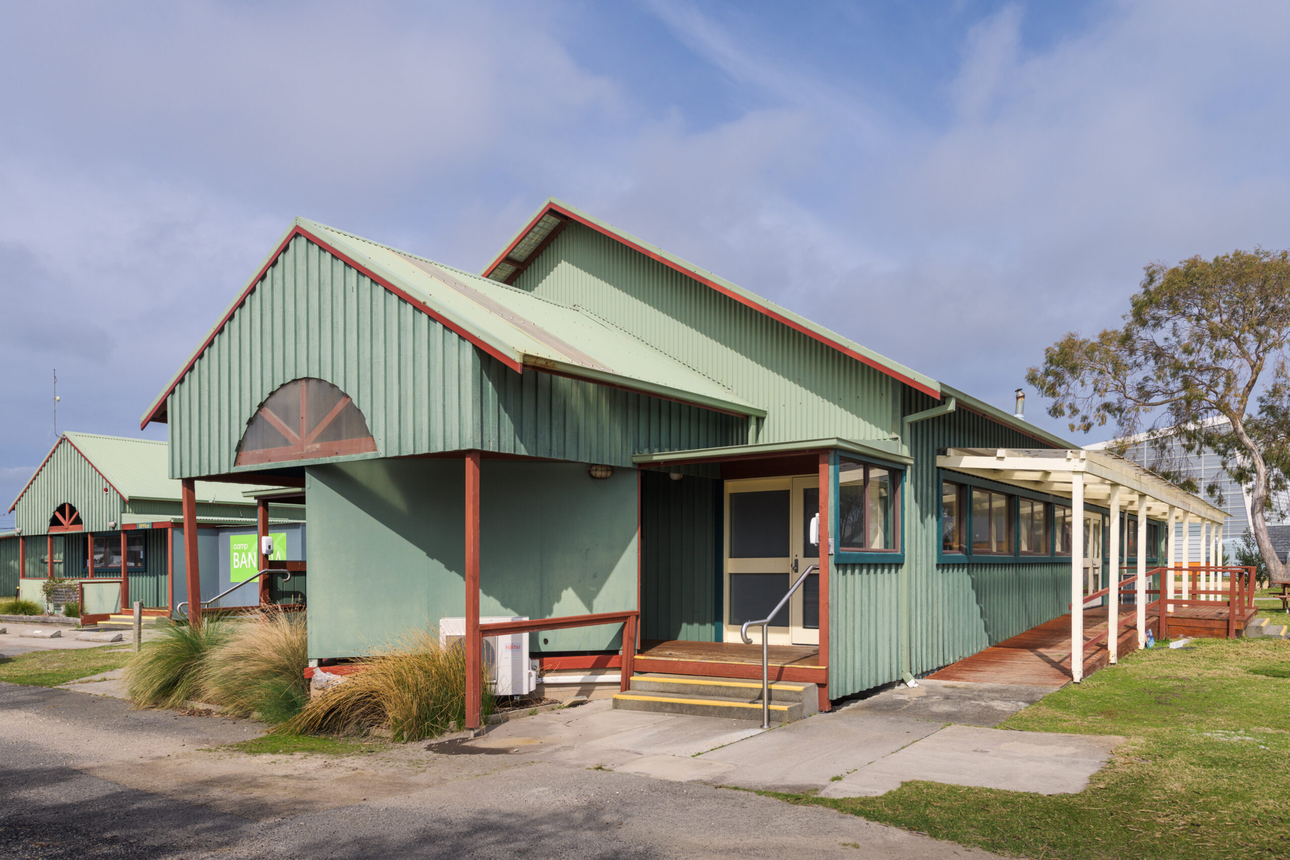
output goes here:
{"type": "MultiPolygon", "coordinates": [[[[937,401],[906,389],[904,413],[937,401]]],[[[909,664],[933,672],[1067,612],[1071,566],[938,565],[942,447],[1050,447],[988,418],[958,410],[909,425],[915,459],[906,478],[906,574],[909,576],[909,664]]],[[[829,689],[836,696],[900,678],[899,565],[836,565],[829,580],[829,689]]]]}

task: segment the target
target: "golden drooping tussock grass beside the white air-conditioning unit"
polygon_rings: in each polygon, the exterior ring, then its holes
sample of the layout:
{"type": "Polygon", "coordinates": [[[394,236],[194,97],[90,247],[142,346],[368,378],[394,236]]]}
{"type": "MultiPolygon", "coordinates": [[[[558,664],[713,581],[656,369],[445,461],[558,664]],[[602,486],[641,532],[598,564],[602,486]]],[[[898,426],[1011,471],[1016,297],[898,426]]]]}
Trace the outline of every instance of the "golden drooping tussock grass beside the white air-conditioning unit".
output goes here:
{"type": "MultiPolygon", "coordinates": [[[[413,741],[464,725],[466,652],[459,645],[440,647],[433,630],[413,630],[373,654],[366,665],[275,732],[342,735],[388,726],[395,741],[413,741]]],[[[484,714],[491,710],[485,683],[484,714]]]]}

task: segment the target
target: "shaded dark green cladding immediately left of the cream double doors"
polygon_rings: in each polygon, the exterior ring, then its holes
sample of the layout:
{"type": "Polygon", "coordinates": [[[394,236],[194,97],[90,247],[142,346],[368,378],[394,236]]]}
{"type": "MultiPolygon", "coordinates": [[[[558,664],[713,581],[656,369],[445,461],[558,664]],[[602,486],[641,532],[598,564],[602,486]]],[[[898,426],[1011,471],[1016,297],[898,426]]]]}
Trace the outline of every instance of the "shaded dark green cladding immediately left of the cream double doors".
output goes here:
{"type": "Polygon", "coordinates": [[[721,481],[641,472],[641,638],[711,642],[721,481]]]}

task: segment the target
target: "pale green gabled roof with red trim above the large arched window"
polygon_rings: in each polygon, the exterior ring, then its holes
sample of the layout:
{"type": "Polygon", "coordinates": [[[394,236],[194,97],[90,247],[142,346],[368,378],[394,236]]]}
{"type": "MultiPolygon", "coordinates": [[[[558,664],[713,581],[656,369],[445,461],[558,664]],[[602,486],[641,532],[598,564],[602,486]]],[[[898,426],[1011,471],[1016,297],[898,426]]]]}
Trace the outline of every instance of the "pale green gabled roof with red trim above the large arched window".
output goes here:
{"type": "Polygon", "coordinates": [[[512,370],[529,366],[739,415],[766,414],[716,380],[587,311],[561,307],[424,257],[297,218],[188,362],[148,407],[142,425],[165,420],[166,397],[295,236],[343,259],[512,370]]]}

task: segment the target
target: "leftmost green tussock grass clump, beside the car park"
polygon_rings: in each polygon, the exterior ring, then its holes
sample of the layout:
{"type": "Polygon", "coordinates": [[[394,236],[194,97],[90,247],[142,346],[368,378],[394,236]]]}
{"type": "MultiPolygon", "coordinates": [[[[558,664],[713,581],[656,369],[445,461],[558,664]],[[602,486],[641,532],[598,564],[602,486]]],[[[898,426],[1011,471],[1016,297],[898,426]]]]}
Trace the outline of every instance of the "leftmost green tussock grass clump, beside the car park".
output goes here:
{"type": "Polygon", "coordinates": [[[170,621],[161,636],[125,668],[125,690],[137,708],[177,708],[205,696],[206,656],[233,634],[232,623],[205,619],[201,627],[170,621]]]}

